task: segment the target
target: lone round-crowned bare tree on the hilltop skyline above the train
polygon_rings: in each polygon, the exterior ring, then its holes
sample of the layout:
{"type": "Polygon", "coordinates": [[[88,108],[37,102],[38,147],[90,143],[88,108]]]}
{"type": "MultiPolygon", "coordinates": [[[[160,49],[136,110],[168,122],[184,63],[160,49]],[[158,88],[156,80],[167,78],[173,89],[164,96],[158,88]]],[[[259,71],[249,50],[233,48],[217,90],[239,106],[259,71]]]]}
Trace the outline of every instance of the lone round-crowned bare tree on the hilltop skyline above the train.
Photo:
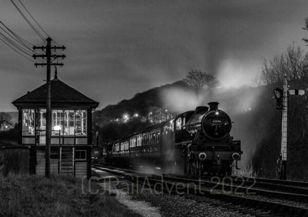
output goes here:
{"type": "Polygon", "coordinates": [[[189,86],[197,90],[214,88],[218,85],[218,80],[214,75],[207,74],[201,70],[190,70],[186,78],[183,79],[189,86]]]}

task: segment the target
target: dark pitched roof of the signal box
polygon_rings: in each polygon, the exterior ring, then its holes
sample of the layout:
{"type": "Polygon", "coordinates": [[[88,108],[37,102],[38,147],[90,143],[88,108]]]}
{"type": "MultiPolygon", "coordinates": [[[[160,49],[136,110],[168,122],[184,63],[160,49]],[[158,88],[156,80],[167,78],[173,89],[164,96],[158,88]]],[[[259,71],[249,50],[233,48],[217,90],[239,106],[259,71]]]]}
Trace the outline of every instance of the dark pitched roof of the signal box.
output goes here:
{"type": "MultiPolygon", "coordinates": [[[[90,99],[79,91],[71,88],[61,80],[54,78],[50,81],[51,86],[51,107],[91,107],[96,108],[99,102],[90,99]]],[[[14,100],[16,107],[46,107],[47,84],[28,92],[24,96],[14,100]]]]}

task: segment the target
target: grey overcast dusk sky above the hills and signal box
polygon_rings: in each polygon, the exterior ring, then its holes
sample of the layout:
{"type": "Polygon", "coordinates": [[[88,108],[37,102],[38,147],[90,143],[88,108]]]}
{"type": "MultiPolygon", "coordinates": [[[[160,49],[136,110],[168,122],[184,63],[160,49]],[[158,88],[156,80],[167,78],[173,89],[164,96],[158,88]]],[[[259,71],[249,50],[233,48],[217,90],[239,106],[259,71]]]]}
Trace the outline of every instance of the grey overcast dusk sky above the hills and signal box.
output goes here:
{"type": "MultiPolygon", "coordinates": [[[[181,80],[190,69],[215,74],[223,87],[254,85],[264,58],[293,42],[307,51],[301,41],[308,37],[301,29],[306,0],[22,3],[67,48],[59,79],[99,101],[99,108],[181,80]]],[[[9,0],[0,1],[0,20],[33,45],[45,45],[9,0]]],[[[46,67],[35,68],[2,41],[0,54],[0,111],[16,111],[11,102],[44,84],[46,67]]]]}

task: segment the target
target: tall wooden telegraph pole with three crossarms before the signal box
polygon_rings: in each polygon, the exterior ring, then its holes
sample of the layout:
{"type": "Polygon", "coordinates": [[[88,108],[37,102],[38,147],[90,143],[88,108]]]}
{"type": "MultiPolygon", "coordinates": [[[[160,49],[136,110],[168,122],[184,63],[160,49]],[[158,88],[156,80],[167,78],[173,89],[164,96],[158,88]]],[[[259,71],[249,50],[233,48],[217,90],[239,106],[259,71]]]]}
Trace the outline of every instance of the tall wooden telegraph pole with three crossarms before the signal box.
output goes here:
{"type": "Polygon", "coordinates": [[[52,39],[48,37],[46,39],[47,46],[41,46],[41,47],[33,47],[33,50],[35,49],[42,49],[46,50],[46,54],[44,55],[32,55],[32,57],[35,59],[36,57],[41,57],[47,59],[46,63],[34,63],[35,67],[37,66],[47,66],[47,95],[46,95],[46,146],[45,146],[45,177],[49,178],[50,176],[50,143],[51,143],[51,86],[50,86],[50,66],[63,66],[63,63],[51,63],[51,57],[54,59],[62,57],[62,59],[65,58],[65,55],[51,55],[51,49],[62,49],[64,51],[65,47],[51,47],[51,41],[52,39]]]}

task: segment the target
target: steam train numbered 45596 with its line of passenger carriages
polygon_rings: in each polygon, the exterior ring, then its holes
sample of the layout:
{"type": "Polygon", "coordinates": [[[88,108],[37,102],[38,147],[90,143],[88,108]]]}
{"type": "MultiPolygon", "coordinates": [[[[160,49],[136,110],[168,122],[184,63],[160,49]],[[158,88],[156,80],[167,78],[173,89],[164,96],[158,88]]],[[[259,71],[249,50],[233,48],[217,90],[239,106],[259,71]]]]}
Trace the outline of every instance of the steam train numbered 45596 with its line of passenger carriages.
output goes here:
{"type": "Polygon", "coordinates": [[[160,167],[165,173],[228,175],[241,159],[241,141],[230,136],[232,122],[218,102],[107,144],[105,163],[160,167]]]}

